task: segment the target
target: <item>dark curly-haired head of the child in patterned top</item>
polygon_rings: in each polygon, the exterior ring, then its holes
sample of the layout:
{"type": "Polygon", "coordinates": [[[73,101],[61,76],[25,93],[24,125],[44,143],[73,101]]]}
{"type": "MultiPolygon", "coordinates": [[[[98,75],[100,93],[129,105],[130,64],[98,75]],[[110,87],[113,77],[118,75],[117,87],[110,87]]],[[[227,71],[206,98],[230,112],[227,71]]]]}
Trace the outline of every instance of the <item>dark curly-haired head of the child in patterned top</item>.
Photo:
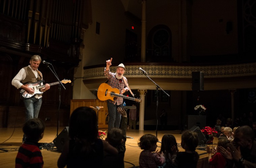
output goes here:
{"type": "Polygon", "coordinates": [[[140,137],[140,142],[138,143],[140,149],[149,150],[154,144],[158,142],[158,138],[152,134],[145,134],[140,137]]]}

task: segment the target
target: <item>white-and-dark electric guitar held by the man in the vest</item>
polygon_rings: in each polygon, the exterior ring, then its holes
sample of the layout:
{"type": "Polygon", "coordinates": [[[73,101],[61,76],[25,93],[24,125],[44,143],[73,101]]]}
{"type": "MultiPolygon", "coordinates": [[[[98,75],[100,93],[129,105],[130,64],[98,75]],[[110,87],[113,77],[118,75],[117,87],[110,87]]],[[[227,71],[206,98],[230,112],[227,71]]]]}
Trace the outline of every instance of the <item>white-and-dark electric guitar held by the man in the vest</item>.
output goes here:
{"type": "MultiPolygon", "coordinates": [[[[21,99],[27,99],[27,98],[31,98],[33,96],[35,96],[36,94],[42,94],[44,92],[40,92],[39,89],[41,88],[44,88],[45,85],[40,85],[43,81],[37,81],[35,83],[25,83],[24,85],[25,86],[28,86],[32,89],[34,89],[34,93],[31,93],[29,94],[26,90],[24,89],[21,89],[20,93],[21,93],[21,99]]],[[[62,80],[61,83],[70,83],[71,81],[70,80],[62,80]]],[[[59,84],[60,82],[54,82],[54,83],[49,83],[50,86],[53,86],[53,85],[57,85],[59,84]]]]}

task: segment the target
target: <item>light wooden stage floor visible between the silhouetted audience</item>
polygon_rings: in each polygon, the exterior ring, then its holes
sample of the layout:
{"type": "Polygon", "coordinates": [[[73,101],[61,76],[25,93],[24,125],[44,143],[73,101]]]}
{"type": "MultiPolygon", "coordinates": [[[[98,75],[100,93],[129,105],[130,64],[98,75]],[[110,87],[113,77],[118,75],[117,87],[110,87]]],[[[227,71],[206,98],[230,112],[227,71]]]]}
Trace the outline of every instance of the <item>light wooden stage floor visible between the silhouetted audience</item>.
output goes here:
{"type": "MultiPolygon", "coordinates": [[[[58,133],[64,129],[65,127],[60,127],[58,133]]],[[[99,129],[102,131],[106,131],[107,129],[99,129]]],[[[57,127],[46,127],[44,138],[42,138],[39,142],[41,143],[53,143],[57,134],[57,127]]],[[[125,168],[139,166],[139,155],[141,149],[138,147],[139,138],[144,134],[153,134],[156,135],[161,141],[164,134],[173,134],[178,143],[179,151],[184,151],[181,146],[181,134],[180,130],[176,131],[162,131],[158,130],[157,132],[148,131],[148,130],[133,130],[127,129],[127,136],[133,137],[127,138],[126,141],[126,152],[124,156],[124,165],[125,168]]],[[[15,167],[15,158],[19,149],[19,146],[22,144],[23,132],[22,128],[0,128],[0,165],[3,167],[15,167]]],[[[105,139],[105,138],[103,138],[105,139]]],[[[214,144],[211,145],[213,147],[216,146],[218,138],[215,137],[214,144]]],[[[54,168],[57,167],[57,160],[60,156],[60,152],[57,151],[54,145],[49,149],[42,149],[42,156],[44,159],[44,167],[45,168],[54,168]]],[[[161,148],[161,143],[158,143],[158,150],[161,148]]],[[[198,168],[210,168],[208,165],[208,154],[206,153],[206,145],[198,146],[197,152],[200,155],[200,159],[198,161],[198,168]]],[[[104,163],[99,163],[104,167],[104,163]]],[[[1,166],[1,167],[2,167],[1,166]]]]}

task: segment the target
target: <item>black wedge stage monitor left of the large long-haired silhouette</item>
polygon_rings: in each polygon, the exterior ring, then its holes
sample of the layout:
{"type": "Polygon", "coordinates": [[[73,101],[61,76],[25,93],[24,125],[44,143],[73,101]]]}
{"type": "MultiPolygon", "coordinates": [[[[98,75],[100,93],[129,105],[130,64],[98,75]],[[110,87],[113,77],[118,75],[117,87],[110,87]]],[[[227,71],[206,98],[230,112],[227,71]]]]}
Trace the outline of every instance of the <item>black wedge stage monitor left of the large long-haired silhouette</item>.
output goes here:
{"type": "Polygon", "coordinates": [[[68,141],[68,139],[68,127],[65,127],[53,140],[53,143],[59,152],[62,152],[64,144],[68,141]]]}

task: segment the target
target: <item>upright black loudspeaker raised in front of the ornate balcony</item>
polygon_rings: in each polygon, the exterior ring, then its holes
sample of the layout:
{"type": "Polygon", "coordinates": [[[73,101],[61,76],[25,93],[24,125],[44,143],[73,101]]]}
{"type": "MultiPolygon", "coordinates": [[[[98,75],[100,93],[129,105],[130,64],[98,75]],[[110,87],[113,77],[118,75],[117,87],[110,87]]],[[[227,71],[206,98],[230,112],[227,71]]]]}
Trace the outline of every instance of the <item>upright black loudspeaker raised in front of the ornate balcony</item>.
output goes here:
{"type": "Polygon", "coordinates": [[[204,73],[192,72],[192,90],[204,90],[204,73]]]}

